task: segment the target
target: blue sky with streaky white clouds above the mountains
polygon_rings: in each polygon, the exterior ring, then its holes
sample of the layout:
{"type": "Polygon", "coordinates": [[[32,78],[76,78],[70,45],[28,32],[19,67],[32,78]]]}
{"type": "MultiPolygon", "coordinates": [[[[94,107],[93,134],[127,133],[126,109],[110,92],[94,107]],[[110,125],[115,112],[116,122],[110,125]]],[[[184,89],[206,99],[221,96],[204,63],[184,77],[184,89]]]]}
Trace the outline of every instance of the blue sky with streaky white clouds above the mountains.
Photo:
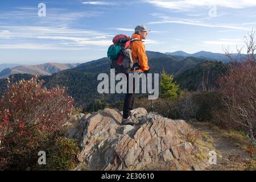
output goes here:
{"type": "Polygon", "coordinates": [[[256,29],[255,8],[255,0],[1,1],[0,64],[100,59],[138,24],[151,30],[148,51],[236,52],[256,29]]]}

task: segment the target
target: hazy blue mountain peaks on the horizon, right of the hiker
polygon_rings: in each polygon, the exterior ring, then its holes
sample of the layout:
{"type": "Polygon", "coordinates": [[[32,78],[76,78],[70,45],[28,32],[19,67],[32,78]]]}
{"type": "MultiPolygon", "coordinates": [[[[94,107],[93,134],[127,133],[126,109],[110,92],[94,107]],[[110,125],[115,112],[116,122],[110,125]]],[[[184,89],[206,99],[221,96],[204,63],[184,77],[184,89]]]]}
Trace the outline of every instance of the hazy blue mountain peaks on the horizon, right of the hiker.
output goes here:
{"type": "MultiPolygon", "coordinates": [[[[176,51],[176,52],[166,52],[166,55],[172,55],[172,56],[183,56],[183,57],[200,57],[203,59],[210,59],[210,60],[216,60],[216,61],[222,61],[224,63],[230,62],[229,57],[225,56],[224,53],[213,53],[213,52],[207,52],[207,51],[200,51],[196,53],[187,53],[184,51],[176,51]]],[[[242,59],[246,60],[247,55],[241,55],[242,59]]],[[[237,53],[232,53],[232,58],[235,60],[240,60],[241,57],[238,57],[237,53]]]]}

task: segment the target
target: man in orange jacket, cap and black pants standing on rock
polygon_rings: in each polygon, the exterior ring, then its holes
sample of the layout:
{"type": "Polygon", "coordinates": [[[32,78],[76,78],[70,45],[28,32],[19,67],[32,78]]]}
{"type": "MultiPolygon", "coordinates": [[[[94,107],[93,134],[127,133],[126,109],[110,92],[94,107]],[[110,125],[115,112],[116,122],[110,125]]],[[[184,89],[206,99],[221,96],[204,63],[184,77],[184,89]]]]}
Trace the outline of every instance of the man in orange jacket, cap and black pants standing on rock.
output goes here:
{"type": "MultiPolygon", "coordinates": [[[[148,67],[147,55],[145,46],[142,42],[142,39],[146,39],[148,34],[148,30],[146,26],[139,25],[135,27],[135,32],[131,36],[131,39],[138,39],[139,41],[133,41],[130,44],[131,47],[131,55],[133,58],[133,68],[131,68],[130,74],[133,73],[148,73],[150,68],[148,67]]],[[[123,125],[133,125],[135,122],[131,119],[131,115],[133,114],[134,109],[134,97],[135,97],[135,81],[133,80],[133,93],[129,93],[129,73],[127,76],[127,93],[125,96],[125,102],[123,104],[123,125]]]]}

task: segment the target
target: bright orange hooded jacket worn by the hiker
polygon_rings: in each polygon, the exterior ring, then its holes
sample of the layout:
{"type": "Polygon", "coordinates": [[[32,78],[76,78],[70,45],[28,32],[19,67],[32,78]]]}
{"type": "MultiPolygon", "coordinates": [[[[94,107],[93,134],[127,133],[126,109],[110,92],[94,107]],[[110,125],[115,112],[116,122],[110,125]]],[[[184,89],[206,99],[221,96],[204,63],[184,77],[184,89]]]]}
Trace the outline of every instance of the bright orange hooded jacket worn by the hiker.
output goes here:
{"type": "MultiPolygon", "coordinates": [[[[132,39],[137,38],[139,40],[142,40],[141,35],[138,35],[138,34],[133,34],[131,38],[132,39]]],[[[131,56],[133,57],[133,62],[138,60],[139,66],[141,67],[141,69],[134,72],[148,71],[149,67],[147,64],[147,55],[146,55],[145,45],[143,44],[143,42],[141,41],[131,42],[130,47],[131,47],[131,56]]]]}

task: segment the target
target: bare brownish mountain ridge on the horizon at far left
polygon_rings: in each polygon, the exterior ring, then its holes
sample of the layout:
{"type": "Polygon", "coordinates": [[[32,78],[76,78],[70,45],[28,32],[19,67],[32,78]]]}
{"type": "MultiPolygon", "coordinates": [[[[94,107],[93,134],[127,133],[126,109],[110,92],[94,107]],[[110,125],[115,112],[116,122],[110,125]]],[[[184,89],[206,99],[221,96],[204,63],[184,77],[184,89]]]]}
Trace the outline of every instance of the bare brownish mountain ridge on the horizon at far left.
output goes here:
{"type": "MultiPolygon", "coordinates": [[[[31,75],[52,75],[63,71],[64,69],[75,68],[79,63],[75,64],[61,64],[61,63],[45,63],[39,65],[18,65],[16,67],[5,68],[0,72],[0,78],[7,78],[10,75],[17,73],[27,73],[31,75]]],[[[5,65],[7,67],[8,65],[5,65]]]]}

